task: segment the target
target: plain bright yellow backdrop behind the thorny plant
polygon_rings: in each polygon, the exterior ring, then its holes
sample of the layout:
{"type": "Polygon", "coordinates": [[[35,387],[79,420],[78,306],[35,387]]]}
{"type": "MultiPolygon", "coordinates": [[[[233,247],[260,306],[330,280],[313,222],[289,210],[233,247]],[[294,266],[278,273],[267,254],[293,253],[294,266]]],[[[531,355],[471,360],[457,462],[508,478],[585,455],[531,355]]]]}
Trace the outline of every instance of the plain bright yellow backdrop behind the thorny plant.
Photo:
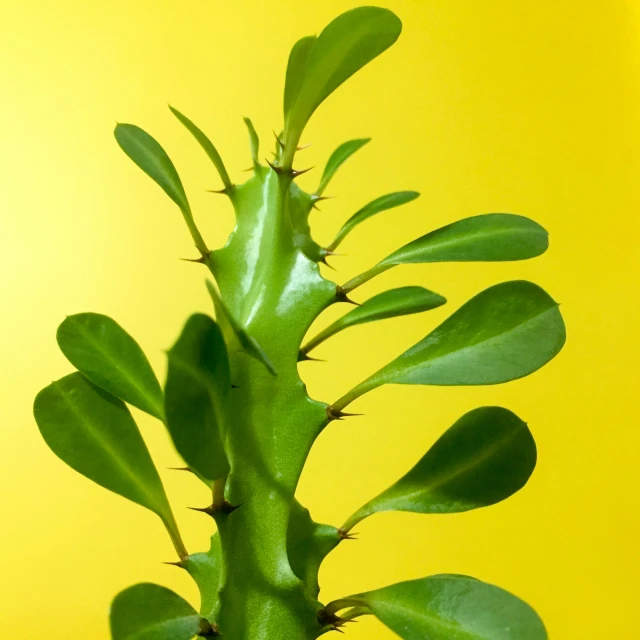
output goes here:
{"type": "MultiPolygon", "coordinates": [[[[209,311],[204,271],[180,214],[125,158],[116,120],[157,137],[176,163],[210,245],[231,229],[207,158],[168,101],[215,141],[233,179],[249,166],[242,115],[265,146],[281,125],[288,51],[358,3],[345,0],[2,0],[0,3],[0,636],[107,638],[112,596],[157,581],[195,599],[164,566],[170,543],[153,515],[67,469],[31,417],[36,392],[70,371],[55,344],[66,314],[115,317],[162,375],[187,315],[209,311]]],[[[422,284],[450,303],[353,329],[305,364],[331,401],[493,283],[534,280],[562,303],[564,351],[533,376],[484,388],[388,387],[319,439],[300,497],[339,525],[406,471],[456,418],[501,404],[539,447],[527,487],[454,516],[386,514],[358,527],[322,571],[326,599],[430,573],[471,574],[528,600],[556,640],[638,637],[637,6],[629,0],[392,0],[398,44],[341,88],[312,120],[299,164],[318,168],[351,137],[373,142],[314,214],[326,242],[369,199],[422,197],[363,225],[335,258],[344,281],[417,235],[461,217],[509,211],[551,234],[522,263],[398,268],[358,291],[422,284]]],[[[333,275],[331,272],[326,272],[333,275]]],[[[318,326],[336,312],[331,310],[318,326]]],[[[139,415],[139,414],[136,414],[139,415]]],[[[139,416],[160,468],[176,458],[139,416]]],[[[166,472],[186,541],[211,524],[189,512],[206,496],[166,472]]],[[[355,639],[392,634],[373,619],[355,639]]]]}

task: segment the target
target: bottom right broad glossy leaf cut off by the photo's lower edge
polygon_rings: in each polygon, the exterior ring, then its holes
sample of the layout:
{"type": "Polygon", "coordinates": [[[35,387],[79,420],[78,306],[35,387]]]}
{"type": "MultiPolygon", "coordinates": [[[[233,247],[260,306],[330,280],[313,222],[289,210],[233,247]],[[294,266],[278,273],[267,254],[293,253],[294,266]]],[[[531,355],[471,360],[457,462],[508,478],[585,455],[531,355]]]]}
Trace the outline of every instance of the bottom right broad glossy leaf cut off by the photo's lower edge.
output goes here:
{"type": "Polygon", "coordinates": [[[350,598],[403,640],[546,640],[536,612],[474,578],[437,575],[350,598]]]}

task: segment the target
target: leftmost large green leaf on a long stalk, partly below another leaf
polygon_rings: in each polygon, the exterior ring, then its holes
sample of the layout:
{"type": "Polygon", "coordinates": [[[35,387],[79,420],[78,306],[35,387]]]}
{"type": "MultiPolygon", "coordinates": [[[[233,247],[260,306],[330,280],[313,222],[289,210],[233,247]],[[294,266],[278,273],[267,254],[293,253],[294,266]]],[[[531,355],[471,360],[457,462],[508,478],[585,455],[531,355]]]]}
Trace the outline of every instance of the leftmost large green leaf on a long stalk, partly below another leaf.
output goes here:
{"type": "Polygon", "coordinates": [[[160,516],[180,557],[187,555],[162,481],[121,400],[72,373],[40,391],[33,413],[53,453],[90,480],[160,516]]]}

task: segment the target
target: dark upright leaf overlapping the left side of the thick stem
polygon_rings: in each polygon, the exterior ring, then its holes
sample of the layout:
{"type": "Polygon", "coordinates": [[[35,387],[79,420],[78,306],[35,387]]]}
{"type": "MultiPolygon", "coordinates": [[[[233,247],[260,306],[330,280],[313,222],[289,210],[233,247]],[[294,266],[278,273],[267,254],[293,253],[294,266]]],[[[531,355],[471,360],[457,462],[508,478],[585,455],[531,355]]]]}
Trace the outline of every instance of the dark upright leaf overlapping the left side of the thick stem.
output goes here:
{"type": "Polygon", "coordinates": [[[209,480],[227,475],[225,403],[231,389],[227,348],[218,325],[196,313],[168,352],[167,428],[178,453],[209,480]]]}

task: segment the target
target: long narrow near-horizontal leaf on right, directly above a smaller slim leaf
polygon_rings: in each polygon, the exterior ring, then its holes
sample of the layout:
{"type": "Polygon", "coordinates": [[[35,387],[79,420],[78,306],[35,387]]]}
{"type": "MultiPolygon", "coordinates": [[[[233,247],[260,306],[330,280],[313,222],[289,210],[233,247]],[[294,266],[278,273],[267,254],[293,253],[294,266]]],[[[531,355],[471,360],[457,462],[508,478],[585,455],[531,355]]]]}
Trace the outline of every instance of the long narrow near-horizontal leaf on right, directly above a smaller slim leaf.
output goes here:
{"type": "Polygon", "coordinates": [[[342,289],[351,291],[398,264],[527,260],[541,255],[548,246],[549,236],[537,222],[511,213],[487,213],[459,220],[406,244],[342,289]]]}

